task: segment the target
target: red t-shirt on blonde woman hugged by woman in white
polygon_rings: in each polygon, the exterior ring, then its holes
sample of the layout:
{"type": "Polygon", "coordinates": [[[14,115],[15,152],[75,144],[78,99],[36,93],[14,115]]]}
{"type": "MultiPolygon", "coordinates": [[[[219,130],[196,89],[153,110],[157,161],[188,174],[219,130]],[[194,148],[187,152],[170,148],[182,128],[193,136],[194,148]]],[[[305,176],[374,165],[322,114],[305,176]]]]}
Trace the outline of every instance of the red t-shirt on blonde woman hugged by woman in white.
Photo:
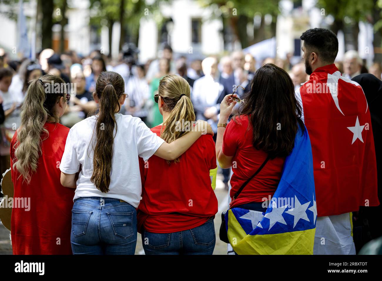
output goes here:
{"type": "MultiPolygon", "coordinates": [[[[160,136],[161,125],[152,128],[160,136]]],[[[216,168],[215,143],[202,135],[180,157],[168,164],[155,155],[139,158],[142,200],[138,206],[138,231],[171,233],[204,224],[217,213],[217,198],[209,171],[216,168]]]]}

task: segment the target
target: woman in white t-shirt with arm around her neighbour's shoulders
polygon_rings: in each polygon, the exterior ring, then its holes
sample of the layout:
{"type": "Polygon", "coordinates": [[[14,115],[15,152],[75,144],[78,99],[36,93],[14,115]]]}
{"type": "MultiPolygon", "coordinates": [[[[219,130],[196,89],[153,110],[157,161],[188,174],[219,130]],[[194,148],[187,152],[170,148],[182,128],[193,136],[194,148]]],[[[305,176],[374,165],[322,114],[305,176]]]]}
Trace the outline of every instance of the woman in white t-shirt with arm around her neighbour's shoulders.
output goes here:
{"type": "Polygon", "coordinates": [[[133,255],[141,197],[139,158],[178,159],[202,133],[213,134],[212,129],[199,121],[192,132],[165,142],[141,119],[118,113],[126,99],[125,83],[112,71],[100,74],[93,97],[99,113],[70,129],[60,165],[61,183],[76,188],[73,254],[133,255]]]}

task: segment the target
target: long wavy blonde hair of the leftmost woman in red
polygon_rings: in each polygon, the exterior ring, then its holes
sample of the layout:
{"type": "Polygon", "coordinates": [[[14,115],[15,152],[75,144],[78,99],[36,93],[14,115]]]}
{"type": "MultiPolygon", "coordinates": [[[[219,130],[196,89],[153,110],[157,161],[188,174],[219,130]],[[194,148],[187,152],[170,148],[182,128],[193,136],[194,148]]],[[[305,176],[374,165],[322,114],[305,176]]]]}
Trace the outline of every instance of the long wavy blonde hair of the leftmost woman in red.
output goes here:
{"type": "Polygon", "coordinates": [[[13,169],[16,169],[20,173],[19,177],[22,176],[28,184],[31,182],[31,175],[37,170],[37,162],[41,155],[41,141],[49,136],[44,124],[47,120],[59,122],[55,104],[60,97],[66,99],[65,82],[60,77],[44,75],[40,79],[29,81],[21,106],[21,125],[13,146],[14,149],[16,148],[13,169]],[[59,90],[53,86],[57,85],[56,83],[60,84],[59,90]],[[50,87],[52,91],[45,93],[47,87],[50,87]]]}

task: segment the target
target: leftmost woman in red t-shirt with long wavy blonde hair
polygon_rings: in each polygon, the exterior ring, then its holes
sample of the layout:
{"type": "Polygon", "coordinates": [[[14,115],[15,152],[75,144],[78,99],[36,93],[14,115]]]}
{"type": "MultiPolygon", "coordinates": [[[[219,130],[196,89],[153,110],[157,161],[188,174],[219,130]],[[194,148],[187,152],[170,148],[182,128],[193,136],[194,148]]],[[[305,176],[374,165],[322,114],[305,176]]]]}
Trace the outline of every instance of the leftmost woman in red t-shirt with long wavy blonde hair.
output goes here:
{"type": "Polygon", "coordinates": [[[52,75],[29,81],[21,125],[11,141],[14,187],[11,239],[14,255],[70,255],[74,190],[60,184],[69,128],[61,125],[70,96],[52,75]]]}

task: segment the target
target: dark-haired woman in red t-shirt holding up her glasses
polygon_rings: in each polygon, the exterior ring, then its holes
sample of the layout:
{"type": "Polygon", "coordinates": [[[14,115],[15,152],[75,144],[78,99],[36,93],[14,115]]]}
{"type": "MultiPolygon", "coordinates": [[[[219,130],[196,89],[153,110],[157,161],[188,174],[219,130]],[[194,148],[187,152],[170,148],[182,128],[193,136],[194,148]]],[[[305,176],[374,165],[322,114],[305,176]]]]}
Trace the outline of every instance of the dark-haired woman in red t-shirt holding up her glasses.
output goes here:
{"type": "Polygon", "coordinates": [[[298,127],[304,128],[301,106],[288,73],[271,63],[256,71],[251,91],[245,94],[239,114],[227,124],[235,104],[231,94],[220,104],[216,140],[220,166],[224,169],[232,166],[230,207],[265,211],[264,198],[273,196],[285,157],[295,145],[298,127]],[[269,161],[265,160],[267,158],[269,161]],[[261,172],[234,200],[235,193],[264,162],[261,172]]]}

